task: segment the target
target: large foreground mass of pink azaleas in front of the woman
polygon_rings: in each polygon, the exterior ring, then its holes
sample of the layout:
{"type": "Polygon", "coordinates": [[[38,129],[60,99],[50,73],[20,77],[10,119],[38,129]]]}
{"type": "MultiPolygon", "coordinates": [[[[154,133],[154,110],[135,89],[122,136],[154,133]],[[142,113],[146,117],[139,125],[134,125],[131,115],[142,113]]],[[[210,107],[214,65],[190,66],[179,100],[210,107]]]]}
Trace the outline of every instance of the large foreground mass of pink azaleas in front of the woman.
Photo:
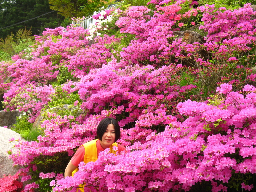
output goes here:
{"type": "MultiPolygon", "coordinates": [[[[134,142],[127,153],[113,156],[105,150],[96,162],[81,162],[74,177],[58,180],[53,191],[79,184],[88,186],[85,191],[188,191],[203,180],[211,181],[212,191],[226,191],[232,171],[256,172],[256,93],[244,93],[228,91],[217,106],[190,100],[180,103],[180,114],[188,116],[182,123],[163,111],[150,115],[150,126],[158,125],[160,118],[168,119],[169,125],[161,133],[147,133],[146,141],[134,142]],[[222,123],[217,124],[220,119],[222,123]]],[[[136,127],[144,125],[138,120],[136,127]]]]}

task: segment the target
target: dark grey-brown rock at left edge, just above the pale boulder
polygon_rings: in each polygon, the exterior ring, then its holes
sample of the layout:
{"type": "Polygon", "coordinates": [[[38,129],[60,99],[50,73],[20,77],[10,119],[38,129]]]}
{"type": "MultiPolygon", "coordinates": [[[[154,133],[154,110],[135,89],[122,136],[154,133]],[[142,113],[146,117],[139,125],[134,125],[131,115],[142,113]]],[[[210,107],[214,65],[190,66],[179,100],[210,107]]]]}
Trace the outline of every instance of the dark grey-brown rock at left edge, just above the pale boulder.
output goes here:
{"type": "Polygon", "coordinates": [[[17,116],[19,116],[18,111],[0,111],[0,126],[9,128],[16,123],[17,116]]]}

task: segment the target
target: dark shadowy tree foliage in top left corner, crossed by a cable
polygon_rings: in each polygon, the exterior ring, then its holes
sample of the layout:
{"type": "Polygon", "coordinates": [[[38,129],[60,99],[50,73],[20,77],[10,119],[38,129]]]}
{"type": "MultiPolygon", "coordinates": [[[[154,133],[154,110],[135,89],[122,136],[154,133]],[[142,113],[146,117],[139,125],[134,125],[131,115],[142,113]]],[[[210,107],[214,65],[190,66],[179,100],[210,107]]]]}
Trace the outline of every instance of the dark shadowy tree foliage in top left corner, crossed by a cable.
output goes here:
{"type": "Polygon", "coordinates": [[[0,0],[0,5],[0,28],[3,28],[0,30],[0,38],[6,38],[11,32],[15,33],[25,28],[30,28],[32,35],[39,35],[44,28],[60,26],[64,19],[57,12],[43,15],[52,11],[48,0],[0,0]],[[13,25],[19,22],[22,23],[13,25]]]}

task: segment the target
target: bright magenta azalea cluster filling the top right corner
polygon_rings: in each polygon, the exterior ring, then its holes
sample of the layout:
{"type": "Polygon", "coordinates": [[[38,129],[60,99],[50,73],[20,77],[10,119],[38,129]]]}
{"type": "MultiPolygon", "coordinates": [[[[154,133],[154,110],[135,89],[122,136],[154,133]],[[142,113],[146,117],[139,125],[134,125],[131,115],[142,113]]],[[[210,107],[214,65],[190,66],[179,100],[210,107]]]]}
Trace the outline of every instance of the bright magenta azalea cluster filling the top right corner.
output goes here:
{"type": "Polygon", "coordinates": [[[236,40],[251,41],[251,38],[244,36],[244,33],[255,32],[253,26],[256,20],[251,20],[250,16],[255,15],[256,12],[253,12],[250,5],[247,3],[244,7],[234,11],[225,10],[225,7],[216,11],[214,5],[200,6],[198,10],[203,12],[204,25],[199,29],[208,31],[208,41],[219,42],[221,39],[226,41],[233,39],[233,42],[236,40]]]}

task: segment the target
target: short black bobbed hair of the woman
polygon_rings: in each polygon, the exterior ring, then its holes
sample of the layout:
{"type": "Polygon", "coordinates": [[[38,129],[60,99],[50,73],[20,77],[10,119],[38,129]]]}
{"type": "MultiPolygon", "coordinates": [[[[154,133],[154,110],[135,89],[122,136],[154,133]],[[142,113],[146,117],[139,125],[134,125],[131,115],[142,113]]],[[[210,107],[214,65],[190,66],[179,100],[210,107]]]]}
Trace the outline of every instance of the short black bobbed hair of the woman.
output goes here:
{"type": "Polygon", "coordinates": [[[102,119],[97,127],[97,137],[100,141],[102,141],[102,137],[108,127],[109,124],[113,124],[114,128],[115,128],[115,142],[120,138],[120,126],[118,124],[118,122],[116,121],[116,119],[113,118],[105,118],[102,119]]]}

